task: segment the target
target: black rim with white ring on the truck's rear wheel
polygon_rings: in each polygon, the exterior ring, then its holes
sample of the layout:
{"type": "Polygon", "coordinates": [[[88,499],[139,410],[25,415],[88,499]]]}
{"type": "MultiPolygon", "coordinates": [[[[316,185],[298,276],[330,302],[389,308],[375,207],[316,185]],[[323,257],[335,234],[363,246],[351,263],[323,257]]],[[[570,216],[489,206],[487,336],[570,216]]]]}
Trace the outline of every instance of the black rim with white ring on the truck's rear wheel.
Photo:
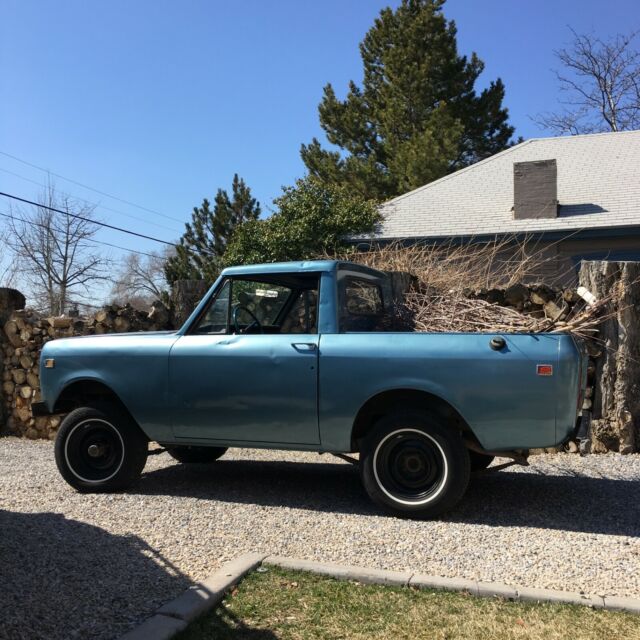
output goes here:
{"type": "Polygon", "coordinates": [[[395,431],[374,454],[374,472],[380,488],[396,502],[424,504],[441,491],[447,463],[440,445],[417,429],[395,431]]]}

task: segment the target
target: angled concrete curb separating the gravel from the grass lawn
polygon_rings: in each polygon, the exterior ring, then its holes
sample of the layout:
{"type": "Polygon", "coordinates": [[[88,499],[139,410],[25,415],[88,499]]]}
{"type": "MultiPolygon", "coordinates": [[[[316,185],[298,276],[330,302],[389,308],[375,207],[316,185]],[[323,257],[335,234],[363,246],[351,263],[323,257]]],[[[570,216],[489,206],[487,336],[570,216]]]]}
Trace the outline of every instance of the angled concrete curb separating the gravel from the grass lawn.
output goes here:
{"type": "Polygon", "coordinates": [[[410,571],[366,569],[348,565],[314,562],[282,556],[247,553],[225,564],[203,582],[190,587],[175,600],[160,607],[154,616],[120,637],[119,640],[169,640],[186,629],[189,622],[219,604],[225,593],[260,565],[271,565],[293,571],[307,571],[337,580],[353,580],[366,584],[464,591],[485,598],[504,598],[520,602],[573,604],[609,611],[625,611],[640,615],[640,599],[618,596],[587,596],[571,591],[512,587],[500,582],[478,582],[464,578],[443,578],[410,571]]]}

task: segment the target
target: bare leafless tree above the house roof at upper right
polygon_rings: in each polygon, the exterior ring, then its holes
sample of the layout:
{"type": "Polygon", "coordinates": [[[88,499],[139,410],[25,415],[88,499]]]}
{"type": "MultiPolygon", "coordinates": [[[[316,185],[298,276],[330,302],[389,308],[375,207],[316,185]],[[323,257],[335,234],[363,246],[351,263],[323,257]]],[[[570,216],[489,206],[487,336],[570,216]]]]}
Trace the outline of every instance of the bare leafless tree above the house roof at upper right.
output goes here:
{"type": "Polygon", "coordinates": [[[640,127],[640,51],[638,31],[603,41],[578,35],[555,51],[562,64],[556,71],[563,109],[543,113],[535,122],[554,133],[579,134],[626,131],[640,127]]]}

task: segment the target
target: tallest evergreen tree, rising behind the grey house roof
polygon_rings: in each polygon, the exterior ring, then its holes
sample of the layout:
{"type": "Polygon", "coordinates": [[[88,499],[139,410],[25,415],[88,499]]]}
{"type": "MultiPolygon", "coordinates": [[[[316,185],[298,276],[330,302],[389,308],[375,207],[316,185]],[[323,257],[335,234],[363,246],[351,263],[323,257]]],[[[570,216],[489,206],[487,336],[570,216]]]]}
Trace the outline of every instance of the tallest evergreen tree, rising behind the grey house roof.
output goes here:
{"type": "Polygon", "coordinates": [[[500,79],[477,94],[484,64],[458,55],[445,0],[402,0],[383,9],[360,44],[362,87],[344,101],[331,84],[320,124],[341,151],[317,139],[302,145],[311,175],[384,200],[415,189],[509,146],[513,127],[500,79]]]}

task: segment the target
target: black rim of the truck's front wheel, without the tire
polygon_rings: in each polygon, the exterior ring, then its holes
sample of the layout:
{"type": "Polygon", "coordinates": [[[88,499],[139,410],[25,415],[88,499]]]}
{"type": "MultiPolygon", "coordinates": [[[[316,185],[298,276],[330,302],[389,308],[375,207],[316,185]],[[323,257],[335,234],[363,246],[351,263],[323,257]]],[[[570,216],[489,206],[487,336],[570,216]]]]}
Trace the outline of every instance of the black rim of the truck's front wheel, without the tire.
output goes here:
{"type": "Polygon", "coordinates": [[[124,459],[124,442],[104,420],[86,420],[67,438],[65,457],[71,472],[85,482],[105,482],[115,476],[124,459]]]}

